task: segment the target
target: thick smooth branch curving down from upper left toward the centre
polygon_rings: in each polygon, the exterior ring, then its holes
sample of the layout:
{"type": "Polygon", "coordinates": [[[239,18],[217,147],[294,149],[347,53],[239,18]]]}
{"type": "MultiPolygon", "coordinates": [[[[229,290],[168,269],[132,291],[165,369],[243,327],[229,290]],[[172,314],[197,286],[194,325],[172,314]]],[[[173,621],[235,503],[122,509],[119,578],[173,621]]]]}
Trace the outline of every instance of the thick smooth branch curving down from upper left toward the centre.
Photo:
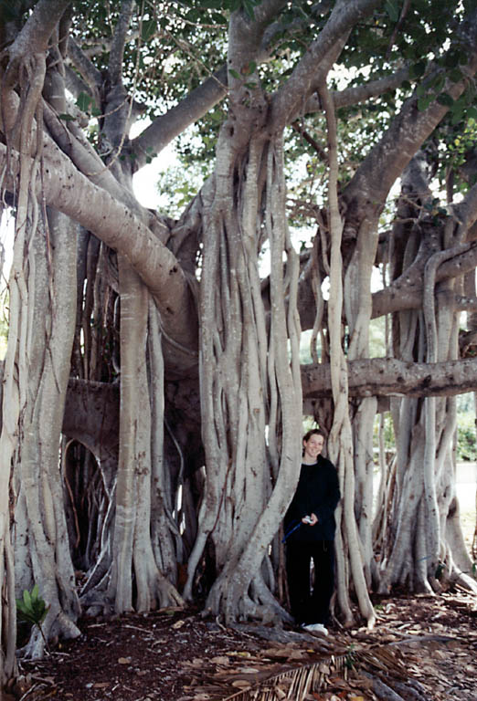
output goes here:
{"type": "MultiPolygon", "coordinates": [[[[168,365],[172,371],[196,370],[198,326],[192,289],[175,256],[122,202],[94,185],[69,161],[56,144],[47,141],[41,182],[32,183],[37,197],[67,214],[107,246],[121,253],[142,277],[161,311],[165,336],[172,340],[168,365]]],[[[7,162],[0,144],[0,168],[7,162]]],[[[19,155],[9,152],[7,189],[17,187],[19,155]]],[[[167,353],[167,351],[166,351],[167,353]]]]}

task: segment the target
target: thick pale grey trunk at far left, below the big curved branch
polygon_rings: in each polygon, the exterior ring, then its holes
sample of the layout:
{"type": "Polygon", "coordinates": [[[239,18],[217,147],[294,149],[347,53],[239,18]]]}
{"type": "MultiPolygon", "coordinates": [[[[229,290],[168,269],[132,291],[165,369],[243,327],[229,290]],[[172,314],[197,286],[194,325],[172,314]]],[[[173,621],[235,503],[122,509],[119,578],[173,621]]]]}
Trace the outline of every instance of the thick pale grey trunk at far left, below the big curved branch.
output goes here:
{"type": "MultiPolygon", "coordinates": [[[[18,357],[19,396],[24,397],[16,448],[16,591],[34,583],[49,605],[45,636],[79,634],[75,577],[69,554],[58,445],[74,333],[76,225],[49,213],[48,229],[30,230],[31,255],[24,263],[25,293],[18,310],[27,343],[18,357]],[[46,312],[47,310],[47,312],[46,312]],[[43,323],[38,323],[42,319],[43,323]]],[[[15,310],[14,310],[15,312],[15,310]]],[[[10,339],[9,339],[10,342],[10,339]]],[[[14,342],[12,338],[11,342],[14,342]]],[[[35,634],[28,654],[39,656],[35,634]]]]}

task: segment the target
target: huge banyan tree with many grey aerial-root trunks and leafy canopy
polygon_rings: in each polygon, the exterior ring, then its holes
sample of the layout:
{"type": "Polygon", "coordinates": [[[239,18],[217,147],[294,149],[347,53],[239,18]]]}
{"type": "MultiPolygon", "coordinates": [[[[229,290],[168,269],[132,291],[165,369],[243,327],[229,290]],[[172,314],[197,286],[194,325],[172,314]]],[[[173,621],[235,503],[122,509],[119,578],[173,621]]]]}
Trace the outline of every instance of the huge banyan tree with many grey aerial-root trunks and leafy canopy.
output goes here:
{"type": "Polygon", "coordinates": [[[477,5],[16,0],[0,42],[3,680],[35,584],[47,637],[193,600],[286,620],[304,414],[341,481],[336,616],[371,627],[372,591],[442,577],[477,592],[454,478],[455,397],[477,388],[477,5]],[[133,176],[173,141],[153,210],[133,176]]]}

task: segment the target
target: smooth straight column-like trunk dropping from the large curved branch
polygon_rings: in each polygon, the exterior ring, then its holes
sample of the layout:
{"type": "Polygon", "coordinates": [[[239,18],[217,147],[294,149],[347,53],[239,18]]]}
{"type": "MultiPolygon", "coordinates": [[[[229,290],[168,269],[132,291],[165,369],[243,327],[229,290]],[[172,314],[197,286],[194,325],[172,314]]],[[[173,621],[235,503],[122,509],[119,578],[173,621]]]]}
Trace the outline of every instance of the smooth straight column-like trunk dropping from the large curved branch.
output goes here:
{"type": "MultiPolygon", "coordinates": [[[[115,611],[122,613],[133,608],[149,611],[157,604],[182,600],[159,570],[151,540],[151,404],[146,368],[149,293],[121,257],[120,284],[120,453],[108,596],[114,599],[115,611]]],[[[150,369],[154,373],[154,365],[150,369]]],[[[163,411],[161,403],[157,408],[163,411]]],[[[162,414],[156,421],[159,419],[162,414]]]]}

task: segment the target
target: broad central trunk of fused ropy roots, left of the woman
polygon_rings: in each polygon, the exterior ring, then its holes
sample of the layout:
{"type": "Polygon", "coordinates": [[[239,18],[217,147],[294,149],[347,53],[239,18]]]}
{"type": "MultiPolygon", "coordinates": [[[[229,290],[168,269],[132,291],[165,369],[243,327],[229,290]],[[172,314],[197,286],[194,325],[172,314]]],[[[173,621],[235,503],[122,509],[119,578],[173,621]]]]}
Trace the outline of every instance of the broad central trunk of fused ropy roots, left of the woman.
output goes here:
{"type": "Polygon", "coordinates": [[[217,580],[207,609],[233,621],[279,611],[260,566],[298,480],[302,400],[298,259],[287,230],[281,137],[268,140],[259,131],[244,155],[227,136],[228,125],[217,149],[215,197],[205,213],[201,397],[207,481],[185,594],[191,594],[196,565],[211,539],[217,580]],[[270,241],[270,340],[258,269],[263,197],[270,241]],[[292,295],[288,311],[286,284],[292,295]]]}

